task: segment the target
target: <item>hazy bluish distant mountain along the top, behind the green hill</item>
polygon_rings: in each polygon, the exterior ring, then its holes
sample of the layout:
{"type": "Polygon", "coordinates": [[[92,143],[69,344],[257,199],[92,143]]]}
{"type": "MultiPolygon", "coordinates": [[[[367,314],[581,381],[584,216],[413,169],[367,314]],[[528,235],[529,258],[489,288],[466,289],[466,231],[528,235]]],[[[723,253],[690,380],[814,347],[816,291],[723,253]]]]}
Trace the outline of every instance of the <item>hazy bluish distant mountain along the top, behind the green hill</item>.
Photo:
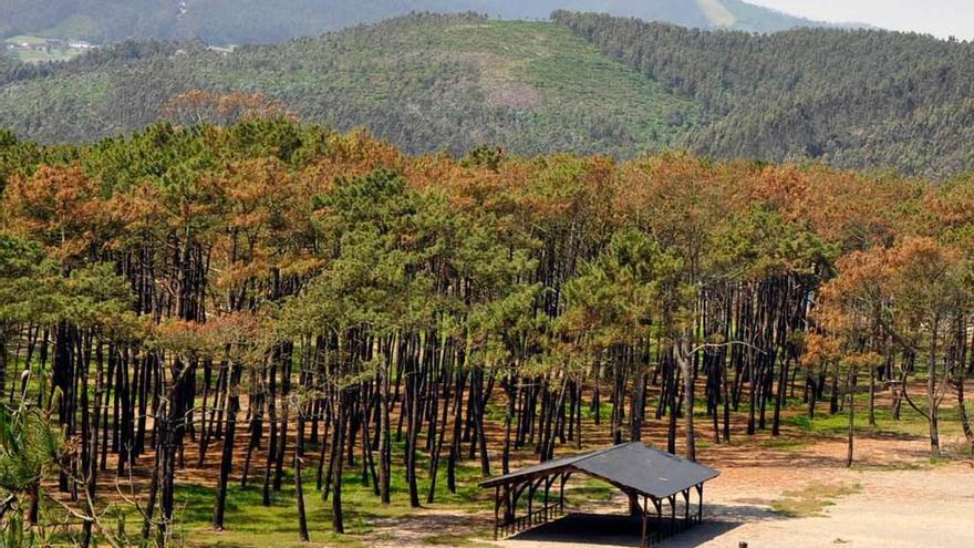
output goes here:
{"type": "Polygon", "coordinates": [[[558,9],[759,32],[820,24],[740,0],[2,0],[0,39],[28,34],[95,43],[129,38],[267,43],[411,12],[547,19],[558,9]]]}

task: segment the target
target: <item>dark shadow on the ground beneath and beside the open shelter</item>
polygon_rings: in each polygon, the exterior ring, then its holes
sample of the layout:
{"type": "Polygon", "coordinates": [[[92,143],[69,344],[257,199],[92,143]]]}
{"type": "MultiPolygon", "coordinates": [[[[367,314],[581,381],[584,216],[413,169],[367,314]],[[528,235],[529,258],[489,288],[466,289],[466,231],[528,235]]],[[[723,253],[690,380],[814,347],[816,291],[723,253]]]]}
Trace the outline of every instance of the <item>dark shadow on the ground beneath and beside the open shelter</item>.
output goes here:
{"type": "MultiPolygon", "coordinates": [[[[656,546],[665,548],[693,548],[721,535],[733,531],[745,523],[783,519],[760,507],[708,505],[709,518],[704,523],[665,538],[656,546]]],[[[650,537],[652,527],[650,525],[650,537]]],[[[656,524],[659,526],[659,524],[656,524]]],[[[511,542],[572,544],[605,547],[639,547],[642,520],[638,517],[605,514],[569,514],[561,519],[519,533],[511,542]]]]}

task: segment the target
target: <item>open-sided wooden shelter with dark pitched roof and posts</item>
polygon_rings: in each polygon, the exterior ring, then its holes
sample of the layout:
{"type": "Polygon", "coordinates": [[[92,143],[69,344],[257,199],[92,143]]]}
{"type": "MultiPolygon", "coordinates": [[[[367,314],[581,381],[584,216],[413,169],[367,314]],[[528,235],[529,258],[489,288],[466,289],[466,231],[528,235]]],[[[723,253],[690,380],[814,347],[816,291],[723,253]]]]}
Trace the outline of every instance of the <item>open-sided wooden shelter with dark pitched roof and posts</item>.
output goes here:
{"type": "Polygon", "coordinates": [[[701,464],[678,458],[640,442],[605,447],[591,453],[557,458],[483,482],[495,489],[494,538],[512,535],[548,523],[564,514],[564,484],[574,473],[607,482],[624,493],[630,511],[642,518],[642,546],[684,530],[703,520],[704,484],[718,473],[701,464]],[[558,497],[551,488],[558,485],[558,497]],[[697,494],[697,510],[691,511],[691,495],[697,494]],[[540,494],[541,500],[537,500],[540,494]],[[526,495],[524,514],[518,503],[526,495]],[[677,518],[677,497],[684,502],[677,518]],[[663,507],[669,504],[670,516],[663,507]]]}

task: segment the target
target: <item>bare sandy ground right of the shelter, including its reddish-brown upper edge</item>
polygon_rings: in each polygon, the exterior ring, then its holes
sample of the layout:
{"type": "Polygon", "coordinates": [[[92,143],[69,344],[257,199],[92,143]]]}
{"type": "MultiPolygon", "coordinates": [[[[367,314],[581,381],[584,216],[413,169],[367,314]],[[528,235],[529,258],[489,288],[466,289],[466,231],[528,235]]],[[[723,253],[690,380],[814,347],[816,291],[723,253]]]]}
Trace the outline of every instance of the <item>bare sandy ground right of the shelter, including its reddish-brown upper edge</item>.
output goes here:
{"type": "MultiPolygon", "coordinates": [[[[877,440],[861,445],[866,469],[860,471],[846,469],[836,462],[833,455],[842,454],[839,442],[816,444],[812,451],[795,454],[792,459],[784,455],[769,464],[732,462],[723,467],[719,478],[707,484],[706,521],[659,546],[736,548],[746,541],[749,548],[974,547],[974,464],[931,466],[918,458],[925,449],[922,442],[877,440]],[[908,466],[899,459],[891,463],[890,449],[913,464],[908,466]],[[920,469],[900,469],[918,466],[920,469]],[[787,518],[771,511],[771,502],[783,493],[822,484],[856,486],[858,490],[832,500],[833,506],[827,507],[821,517],[787,518]]],[[[623,513],[624,506],[619,504],[614,509],[623,513]]],[[[564,527],[551,524],[497,545],[639,546],[636,537],[594,535],[592,529],[607,527],[593,524],[587,529],[569,519],[564,527]]]]}

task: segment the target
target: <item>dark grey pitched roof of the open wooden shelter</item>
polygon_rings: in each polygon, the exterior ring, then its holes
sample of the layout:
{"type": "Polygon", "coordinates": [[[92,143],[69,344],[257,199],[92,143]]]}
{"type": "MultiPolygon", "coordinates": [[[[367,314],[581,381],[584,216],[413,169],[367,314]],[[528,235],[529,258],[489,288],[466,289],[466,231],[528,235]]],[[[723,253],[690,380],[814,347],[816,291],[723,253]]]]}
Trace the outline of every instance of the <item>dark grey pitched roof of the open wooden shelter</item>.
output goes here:
{"type": "Polygon", "coordinates": [[[647,447],[640,442],[631,442],[528,466],[484,482],[480,486],[493,487],[518,479],[545,476],[561,468],[572,468],[655,498],[669,497],[713,479],[719,474],[702,464],[647,447]]]}

